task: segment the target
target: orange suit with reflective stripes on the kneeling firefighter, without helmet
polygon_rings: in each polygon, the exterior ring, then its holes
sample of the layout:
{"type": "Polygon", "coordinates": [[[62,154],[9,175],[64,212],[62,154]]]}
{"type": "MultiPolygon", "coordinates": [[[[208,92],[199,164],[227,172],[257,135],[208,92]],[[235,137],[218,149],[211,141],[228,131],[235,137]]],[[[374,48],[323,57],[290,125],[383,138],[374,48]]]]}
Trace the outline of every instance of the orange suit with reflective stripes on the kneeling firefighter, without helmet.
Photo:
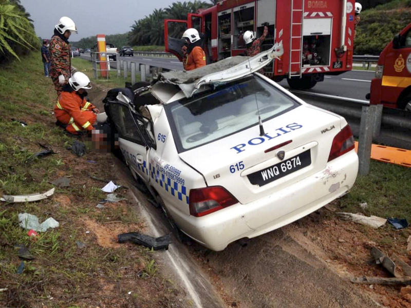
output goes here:
{"type": "Polygon", "coordinates": [[[97,115],[91,110],[96,108],[76,91],[63,91],[54,107],[57,120],[67,124],[66,130],[78,134],[82,130],[92,130],[97,115]]]}

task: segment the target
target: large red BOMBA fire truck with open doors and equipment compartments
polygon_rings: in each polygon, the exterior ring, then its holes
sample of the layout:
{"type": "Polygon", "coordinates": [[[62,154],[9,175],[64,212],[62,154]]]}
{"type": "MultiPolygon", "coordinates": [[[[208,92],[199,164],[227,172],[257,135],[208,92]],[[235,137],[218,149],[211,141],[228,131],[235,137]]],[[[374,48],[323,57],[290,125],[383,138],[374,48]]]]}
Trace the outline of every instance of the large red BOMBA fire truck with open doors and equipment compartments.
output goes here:
{"type": "Polygon", "coordinates": [[[265,67],[275,81],[287,78],[292,88],[308,89],[325,74],[351,70],[354,38],[354,0],[222,0],[188,14],[187,20],[165,20],[165,50],[182,60],[181,35],[187,28],[203,33],[209,63],[244,55],[242,34],[269,34],[262,50],[283,42],[281,60],[265,67]]]}

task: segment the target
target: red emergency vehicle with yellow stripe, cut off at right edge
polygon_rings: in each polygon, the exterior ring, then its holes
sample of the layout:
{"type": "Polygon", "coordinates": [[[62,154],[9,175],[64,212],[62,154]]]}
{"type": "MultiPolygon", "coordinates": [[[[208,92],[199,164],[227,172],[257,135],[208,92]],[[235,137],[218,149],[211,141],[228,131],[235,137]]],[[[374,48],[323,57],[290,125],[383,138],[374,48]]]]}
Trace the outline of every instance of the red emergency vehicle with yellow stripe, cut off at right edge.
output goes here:
{"type": "Polygon", "coordinates": [[[411,24],[380,53],[369,102],[411,111],[411,24]]]}

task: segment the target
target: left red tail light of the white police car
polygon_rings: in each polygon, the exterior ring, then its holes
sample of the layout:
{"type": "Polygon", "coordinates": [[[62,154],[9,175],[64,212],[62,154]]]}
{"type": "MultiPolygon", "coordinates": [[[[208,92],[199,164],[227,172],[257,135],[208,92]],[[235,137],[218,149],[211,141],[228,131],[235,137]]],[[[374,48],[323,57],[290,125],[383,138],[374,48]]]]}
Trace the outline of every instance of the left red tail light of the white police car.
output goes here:
{"type": "Polygon", "coordinates": [[[225,188],[211,186],[190,190],[190,215],[201,217],[238,203],[225,188]]]}

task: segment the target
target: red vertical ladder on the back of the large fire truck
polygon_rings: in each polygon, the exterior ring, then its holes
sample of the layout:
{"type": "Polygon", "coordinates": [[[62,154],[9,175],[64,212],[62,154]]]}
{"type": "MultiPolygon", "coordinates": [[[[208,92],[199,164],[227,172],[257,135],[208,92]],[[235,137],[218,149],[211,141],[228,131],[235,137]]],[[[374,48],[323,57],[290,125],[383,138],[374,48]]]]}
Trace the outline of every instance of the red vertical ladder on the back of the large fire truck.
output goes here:
{"type": "Polygon", "coordinates": [[[288,78],[302,74],[304,0],[291,0],[290,64],[288,78]]]}

